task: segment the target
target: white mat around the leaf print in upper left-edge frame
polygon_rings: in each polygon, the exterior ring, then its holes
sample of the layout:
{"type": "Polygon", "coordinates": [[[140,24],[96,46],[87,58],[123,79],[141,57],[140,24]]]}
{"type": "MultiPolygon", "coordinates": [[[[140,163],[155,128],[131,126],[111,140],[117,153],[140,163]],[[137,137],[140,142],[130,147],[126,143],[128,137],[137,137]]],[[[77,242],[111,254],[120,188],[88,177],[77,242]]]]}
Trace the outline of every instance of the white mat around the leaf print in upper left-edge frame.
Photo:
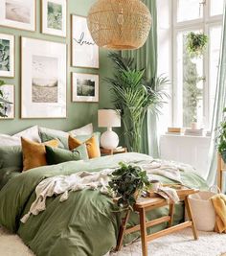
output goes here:
{"type": "Polygon", "coordinates": [[[0,70],[0,77],[14,77],[14,60],[15,60],[15,51],[14,51],[14,35],[0,34],[0,39],[10,40],[10,71],[0,70]]]}

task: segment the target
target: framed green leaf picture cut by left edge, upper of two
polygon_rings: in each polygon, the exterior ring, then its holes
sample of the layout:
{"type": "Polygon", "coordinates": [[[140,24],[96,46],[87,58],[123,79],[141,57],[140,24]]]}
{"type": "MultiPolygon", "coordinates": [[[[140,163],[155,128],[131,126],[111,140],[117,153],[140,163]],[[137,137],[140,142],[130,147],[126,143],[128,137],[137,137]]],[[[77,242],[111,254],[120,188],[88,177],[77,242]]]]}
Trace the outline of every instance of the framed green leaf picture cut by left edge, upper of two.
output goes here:
{"type": "Polygon", "coordinates": [[[0,77],[14,77],[14,35],[0,34],[0,77]]]}

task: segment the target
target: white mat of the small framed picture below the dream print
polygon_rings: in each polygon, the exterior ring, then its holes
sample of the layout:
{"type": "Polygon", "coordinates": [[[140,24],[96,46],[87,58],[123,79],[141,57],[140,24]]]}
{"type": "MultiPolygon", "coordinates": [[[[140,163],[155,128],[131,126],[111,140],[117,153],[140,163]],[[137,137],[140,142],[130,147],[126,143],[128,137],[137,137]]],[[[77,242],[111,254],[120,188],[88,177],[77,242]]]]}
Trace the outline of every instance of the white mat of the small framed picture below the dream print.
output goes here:
{"type": "Polygon", "coordinates": [[[82,74],[82,73],[72,73],[72,101],[73,102],[99,102],[99,75],[93,74],[82,74]],[[95,96],[78,96],[77,95],[77,80],[92,80],[95,81],[95,96]]]}

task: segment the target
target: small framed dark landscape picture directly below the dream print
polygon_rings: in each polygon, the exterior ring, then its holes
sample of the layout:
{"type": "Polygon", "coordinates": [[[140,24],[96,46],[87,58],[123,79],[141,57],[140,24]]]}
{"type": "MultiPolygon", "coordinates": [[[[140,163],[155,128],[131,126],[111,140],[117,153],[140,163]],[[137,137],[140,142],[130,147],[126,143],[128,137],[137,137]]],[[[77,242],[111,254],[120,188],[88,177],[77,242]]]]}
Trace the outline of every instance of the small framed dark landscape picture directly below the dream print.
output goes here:
{"type": "Polygon", "coordinates": [[[72,101],[99,102],[99,75],[72,73],[72,101]]]}

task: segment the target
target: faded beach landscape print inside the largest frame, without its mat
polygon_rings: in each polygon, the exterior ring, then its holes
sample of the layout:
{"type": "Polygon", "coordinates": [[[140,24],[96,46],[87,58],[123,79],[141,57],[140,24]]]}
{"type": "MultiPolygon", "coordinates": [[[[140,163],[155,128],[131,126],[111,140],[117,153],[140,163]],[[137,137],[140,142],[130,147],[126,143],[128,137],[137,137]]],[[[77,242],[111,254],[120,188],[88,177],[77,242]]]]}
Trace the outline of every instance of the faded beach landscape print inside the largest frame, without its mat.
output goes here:
{"type": "Polygon", "coordinates": [[[57,103],[57,58],[33,56],[33,103],[57,103]]]}

